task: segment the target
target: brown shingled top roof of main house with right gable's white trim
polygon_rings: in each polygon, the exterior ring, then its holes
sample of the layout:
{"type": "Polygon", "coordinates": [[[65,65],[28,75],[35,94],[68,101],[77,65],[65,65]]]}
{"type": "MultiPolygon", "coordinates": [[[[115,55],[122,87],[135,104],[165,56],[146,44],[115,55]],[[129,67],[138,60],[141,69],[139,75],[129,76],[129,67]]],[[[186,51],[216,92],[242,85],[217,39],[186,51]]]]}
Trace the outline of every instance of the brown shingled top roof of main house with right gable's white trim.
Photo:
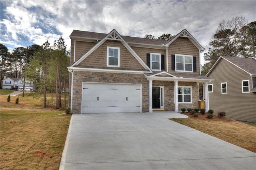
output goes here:
{"type": "MultiPolygon", "coordinates": [[[[97,32],[88,32],[88,31],[79,31],[79,30],[73,30],[73,32],[70,34],[70,38],[84,38],[89,40],[97,40],[100,41],[104,37],[106,37],[108,34],[104,33],[97,33],[97,32]]],[[[201,51],[204,50],[204,47],[200,45],[196,41],[196,39],[186,30],[182,30],[180,33],[176,34],[176,36],[172,37],[168,41],[164,40],[154,40],[149,38],[138,38],[138,37],[130,37],[130,36],[121,36],[127,43],[133,43],[133,44],[144,44],[144,45],[155,45],[155,46],[169,46],[172,42],[174,42],[179,37],[186,37],[188,38],[194,45],[201,51]]]]}

